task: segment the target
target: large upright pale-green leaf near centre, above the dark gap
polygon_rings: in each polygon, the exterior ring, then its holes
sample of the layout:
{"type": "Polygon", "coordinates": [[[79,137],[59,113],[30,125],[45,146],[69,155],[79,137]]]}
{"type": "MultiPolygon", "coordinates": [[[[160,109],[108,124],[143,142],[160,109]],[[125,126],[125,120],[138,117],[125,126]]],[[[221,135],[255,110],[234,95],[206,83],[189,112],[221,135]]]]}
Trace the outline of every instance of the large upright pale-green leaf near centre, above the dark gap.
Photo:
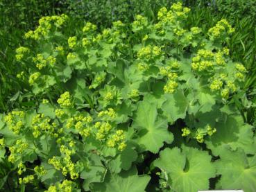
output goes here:
{"type": "Polygon", "coordinates": [[[157,153],[164,141],[171,143],[173,134],[168,131],[167,119],[157,114],[157,104],[142,101],[138,105],[133,127],[139,130],[137,143],[146,150],[157,153]]]}

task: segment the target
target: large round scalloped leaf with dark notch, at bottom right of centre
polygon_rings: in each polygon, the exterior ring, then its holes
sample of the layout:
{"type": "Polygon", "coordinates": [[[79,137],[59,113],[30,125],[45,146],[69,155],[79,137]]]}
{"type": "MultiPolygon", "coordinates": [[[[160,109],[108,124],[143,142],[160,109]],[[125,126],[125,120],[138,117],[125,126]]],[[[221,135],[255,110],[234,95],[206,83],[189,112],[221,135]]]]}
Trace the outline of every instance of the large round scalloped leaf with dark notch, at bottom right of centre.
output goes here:
{"type": "Polygon", "coordinates": [[[154,165],[168,174],[168,183],[174,191],[197,192],[209,189],[209,179],[215,176],[215,168],[207,152],[195,148],[166,148],[154,165]]]}

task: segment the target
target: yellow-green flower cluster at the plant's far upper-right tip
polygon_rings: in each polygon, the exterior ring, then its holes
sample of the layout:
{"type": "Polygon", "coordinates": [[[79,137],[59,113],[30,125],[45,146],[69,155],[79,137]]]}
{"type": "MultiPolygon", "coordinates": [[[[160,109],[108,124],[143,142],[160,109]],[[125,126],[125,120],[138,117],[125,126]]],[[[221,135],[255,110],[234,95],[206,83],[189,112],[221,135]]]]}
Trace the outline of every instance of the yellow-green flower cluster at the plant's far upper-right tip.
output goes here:
{"type": "Polygon", "coordinates": [[[218,21],[216,26],[208,30],[209,35],[214,39],[217,39],[222,35],[230,34],[233,32],[234,32],[234,28],[232,28],[232,26],[228,24],[228,21],[226,19],[221,19],[221,21],[218,21]]]}

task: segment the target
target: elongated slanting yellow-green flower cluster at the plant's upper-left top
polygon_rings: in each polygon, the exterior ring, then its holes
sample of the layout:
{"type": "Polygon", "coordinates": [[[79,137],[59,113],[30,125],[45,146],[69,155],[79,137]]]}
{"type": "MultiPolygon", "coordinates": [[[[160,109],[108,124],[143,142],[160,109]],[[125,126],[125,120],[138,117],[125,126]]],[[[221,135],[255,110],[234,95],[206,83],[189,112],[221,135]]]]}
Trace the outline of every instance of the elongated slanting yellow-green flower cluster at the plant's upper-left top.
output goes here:
{"type": "Polygon", "coordinates": [[[46,35],[49,35],[50,30],[53,28],[53,26],[56,26],[59,28],[62,26],[65,21],[67,21],[69,17],[67,15],[60,15],[60,16],[46,16],[42,17],[39,20],[39,26],[33,31],[29,30],[28,33],[24,35],[26,39],[33,39],[33,40],[40,40],[42,37],[46,37],[46,35]]]}

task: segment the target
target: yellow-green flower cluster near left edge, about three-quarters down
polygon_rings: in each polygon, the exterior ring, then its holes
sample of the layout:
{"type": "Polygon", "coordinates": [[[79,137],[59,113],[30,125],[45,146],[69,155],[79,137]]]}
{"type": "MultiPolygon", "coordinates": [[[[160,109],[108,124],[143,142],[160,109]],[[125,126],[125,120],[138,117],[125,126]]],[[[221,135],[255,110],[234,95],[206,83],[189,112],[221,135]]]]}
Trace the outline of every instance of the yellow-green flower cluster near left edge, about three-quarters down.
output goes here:
{"type": "Polygon", "coordinates": [[[21,158],[21,154],[28,148],[28,143],[26,141],[22,141],[21,139],[17,139],[14,146],[10,146],[10,155],[8,157],[8,162],[14,163],[19,158],[21,158]]]}

